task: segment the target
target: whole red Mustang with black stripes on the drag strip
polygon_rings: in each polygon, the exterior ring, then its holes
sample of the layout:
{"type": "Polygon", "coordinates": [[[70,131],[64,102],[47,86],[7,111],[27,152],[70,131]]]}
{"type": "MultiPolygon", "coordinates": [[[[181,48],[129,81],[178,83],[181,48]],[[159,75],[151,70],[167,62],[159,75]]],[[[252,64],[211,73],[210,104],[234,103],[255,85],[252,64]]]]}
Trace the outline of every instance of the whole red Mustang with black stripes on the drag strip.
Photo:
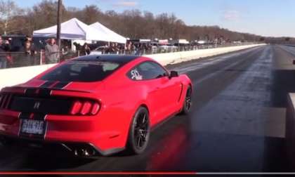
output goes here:
{"type": "Polygon", "coordinates": [[[0,136],[10,143],[62,145],[82,157],[125,148],[140,154],[152,127],[188,113],[191,93],[186,75],[169,73],[150,58],[75,58],[2,89],[0,136]]]}

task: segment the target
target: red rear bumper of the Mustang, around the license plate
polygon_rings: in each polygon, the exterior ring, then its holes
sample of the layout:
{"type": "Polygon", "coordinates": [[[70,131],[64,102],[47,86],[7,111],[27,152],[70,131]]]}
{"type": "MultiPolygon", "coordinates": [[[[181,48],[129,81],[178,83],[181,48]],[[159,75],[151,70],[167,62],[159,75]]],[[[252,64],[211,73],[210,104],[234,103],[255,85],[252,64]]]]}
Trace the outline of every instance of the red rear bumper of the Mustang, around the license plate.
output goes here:
{"type": "MultiPolygon", "coordinates": [[[[103,117],[47,116],[44,136],[22,135],[21,118],[18,112],[0,111],[0,137],[2,141],[13,141],[27,147],[55,145],[63,147],[77,156],[85,150],[87,154],[112,155],[124,150],[126,138],[120,131],[105,128],[103,117]],[[122,138],[123,137],[123,138],[122,138]]],[[[108,123],[110,124],[110,123],[108,123]]]]}

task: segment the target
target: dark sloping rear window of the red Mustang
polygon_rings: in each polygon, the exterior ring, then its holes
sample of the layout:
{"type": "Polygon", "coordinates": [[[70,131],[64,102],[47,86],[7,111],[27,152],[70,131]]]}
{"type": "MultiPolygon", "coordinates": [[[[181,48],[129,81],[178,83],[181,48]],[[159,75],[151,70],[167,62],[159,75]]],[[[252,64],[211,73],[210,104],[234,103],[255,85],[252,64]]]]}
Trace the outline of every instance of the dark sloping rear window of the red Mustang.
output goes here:
{"type": "Polygon", "coordinates": [[[121,67],[120,63],[101,61],[70,61],[41,77],[46,81],[102,81],[121,67]]]}

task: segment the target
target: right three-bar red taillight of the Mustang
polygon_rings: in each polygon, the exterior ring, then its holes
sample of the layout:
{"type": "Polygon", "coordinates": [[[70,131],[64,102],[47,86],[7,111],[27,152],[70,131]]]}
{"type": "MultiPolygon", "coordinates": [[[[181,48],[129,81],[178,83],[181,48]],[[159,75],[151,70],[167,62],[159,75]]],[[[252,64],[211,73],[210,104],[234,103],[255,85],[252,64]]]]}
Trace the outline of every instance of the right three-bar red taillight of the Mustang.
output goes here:
{"type": "Polygon", "coordinates": [[[100,110],[100,104],[91,101],[74,101],[70,114],[72,115],[95,115],[100,110]]]}

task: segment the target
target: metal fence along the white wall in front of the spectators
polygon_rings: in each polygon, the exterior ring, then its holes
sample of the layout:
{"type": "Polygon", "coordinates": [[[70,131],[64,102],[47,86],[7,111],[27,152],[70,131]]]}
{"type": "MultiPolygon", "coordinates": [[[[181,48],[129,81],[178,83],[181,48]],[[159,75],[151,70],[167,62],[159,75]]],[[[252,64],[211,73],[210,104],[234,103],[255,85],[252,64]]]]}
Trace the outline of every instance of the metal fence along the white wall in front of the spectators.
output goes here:
{"type": "MultiPolygon", "coordinates": [[[[130,54],[130,55],[150,55],[157,53],[173,53],[179,51],[195,51],[202,50],[205,48],[219,48],[226,46],[242,46],[249,45],[254,43],[243,43],[243,44],[209,44],[209,45],[195,45],[195,46],[159,46],[152,47],[150,49],[145,48],[136,48],[132,51],[127,50],[118,50],[114,53],[105,53],[104,51],[92,51],[91,54],[130,54]]],[[[85,55],[82,51],[66,51],[59,53],[51,53],[51,55],[55,54],[55,58],[52,56],[46,55],[44,51],[32,51],[32,52],[5,52],[0,53],[0,69],[4,68],[12,68],[12,67],[27,67],[34,65],[44,65],[51,63],[58,63],[59,61],[69,60],[70,58],[79,57],[81,55],[85,55]],[[49,58],[49,59],[48,59],[49,58]],[[60,58],[60,60],[58,59],[60,58]]]]}

